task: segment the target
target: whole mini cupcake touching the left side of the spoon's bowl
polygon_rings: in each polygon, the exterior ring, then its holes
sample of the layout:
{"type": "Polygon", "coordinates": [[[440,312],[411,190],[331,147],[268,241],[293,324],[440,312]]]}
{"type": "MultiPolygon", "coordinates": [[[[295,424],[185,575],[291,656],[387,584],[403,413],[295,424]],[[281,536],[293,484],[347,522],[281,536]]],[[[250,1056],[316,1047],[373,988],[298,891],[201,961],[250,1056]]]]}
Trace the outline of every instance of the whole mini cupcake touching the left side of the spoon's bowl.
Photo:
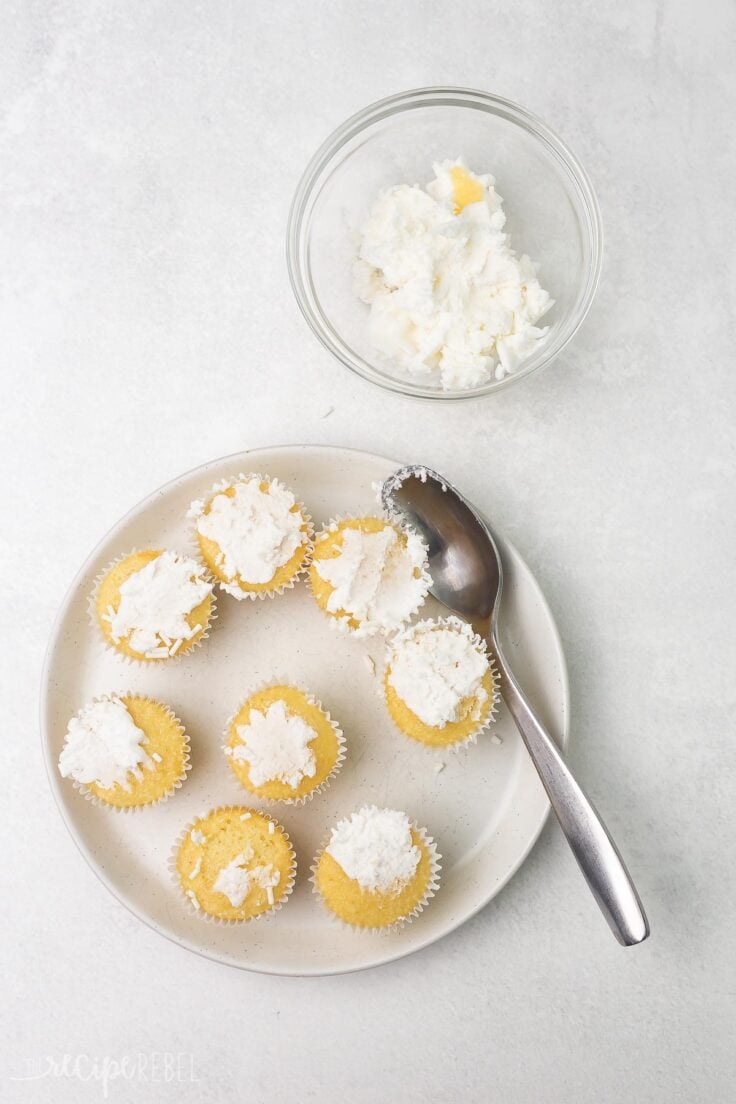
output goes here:
{"type": "Polygon", "coordinates": [[[318,535],[309,585],[341,628],[356,636],[393,633],[427,595],[427,549],[394,521],[343,518],[318,535]]]}

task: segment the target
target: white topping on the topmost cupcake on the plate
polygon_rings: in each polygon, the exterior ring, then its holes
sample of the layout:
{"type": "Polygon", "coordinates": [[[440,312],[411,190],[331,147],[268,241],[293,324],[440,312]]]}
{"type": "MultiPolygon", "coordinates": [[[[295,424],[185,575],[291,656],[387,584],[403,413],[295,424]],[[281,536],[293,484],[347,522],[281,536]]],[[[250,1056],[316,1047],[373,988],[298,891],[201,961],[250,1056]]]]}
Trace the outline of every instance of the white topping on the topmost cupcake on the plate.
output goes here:
{"type": "Polygon", "coordinates": [[[242,597],[237,578],[269,583],[305,542],[305,518],[295,495],[278,479],[238,476],[215,485],[210,502],[192,502],[196,531],[220,549],[223,590],[242,597]],[[227,491],[227,493],[225,493],[227,491]]]}

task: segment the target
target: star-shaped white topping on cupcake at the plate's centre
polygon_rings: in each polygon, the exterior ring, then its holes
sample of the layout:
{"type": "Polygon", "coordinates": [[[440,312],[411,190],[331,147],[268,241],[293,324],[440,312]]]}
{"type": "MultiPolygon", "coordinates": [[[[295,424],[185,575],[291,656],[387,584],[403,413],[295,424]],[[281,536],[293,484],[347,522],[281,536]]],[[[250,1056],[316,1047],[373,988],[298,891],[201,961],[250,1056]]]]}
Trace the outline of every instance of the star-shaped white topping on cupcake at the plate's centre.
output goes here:
{"type": "Polygon", "coordinates": [[[317,760],[309,744],[317,733],[286,702],[275,701],[264,712],[252,709],[248,723],[235,731],[243,743],[232,747],[231,755],[248,764],[254,786],[284,782],[296,788],[302,778],[313,777],[317,760]]]}

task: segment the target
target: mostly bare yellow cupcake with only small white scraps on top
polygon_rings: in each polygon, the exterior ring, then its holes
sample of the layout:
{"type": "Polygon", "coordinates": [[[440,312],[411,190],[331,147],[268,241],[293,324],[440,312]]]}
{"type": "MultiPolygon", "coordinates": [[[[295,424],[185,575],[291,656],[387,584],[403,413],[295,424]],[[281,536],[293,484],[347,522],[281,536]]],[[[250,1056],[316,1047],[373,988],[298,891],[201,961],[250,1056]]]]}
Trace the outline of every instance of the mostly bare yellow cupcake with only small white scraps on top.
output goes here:
{"type": "Polygon", "coordinates": [[[188,826],[171,866],[191,909],[232,923],[280,909],[294,887],[296,858],[267,814],[230,806],[188,826]]]}

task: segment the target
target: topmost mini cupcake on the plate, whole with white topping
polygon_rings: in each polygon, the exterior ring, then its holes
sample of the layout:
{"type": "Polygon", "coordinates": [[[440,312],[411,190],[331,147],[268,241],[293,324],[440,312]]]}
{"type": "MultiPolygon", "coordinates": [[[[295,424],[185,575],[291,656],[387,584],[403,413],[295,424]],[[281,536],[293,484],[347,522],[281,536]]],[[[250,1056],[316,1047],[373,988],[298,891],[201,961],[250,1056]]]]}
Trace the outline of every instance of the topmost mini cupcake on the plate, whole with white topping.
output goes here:
{"type": "Polygon", "coordinates": [[[264,598],[291,586],[303,570],[312,523],[278,479],[239,475],[192,502],[196,542],[220,588],[235,598],[264,598]]]}

